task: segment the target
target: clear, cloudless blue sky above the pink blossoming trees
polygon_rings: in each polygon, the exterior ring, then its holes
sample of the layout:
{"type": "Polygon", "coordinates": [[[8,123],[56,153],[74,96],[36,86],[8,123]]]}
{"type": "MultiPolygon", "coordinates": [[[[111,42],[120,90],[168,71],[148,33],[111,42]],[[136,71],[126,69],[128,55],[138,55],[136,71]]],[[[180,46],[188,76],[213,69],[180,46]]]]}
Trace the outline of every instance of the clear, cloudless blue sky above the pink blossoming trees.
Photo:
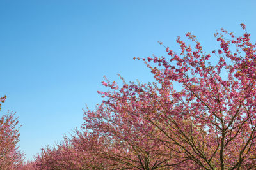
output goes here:
{"type": "Polygon", "coordinates": [[[0,115],[17,112],[26,159],[83,123],[106,75],[147,83],[152,75],[132,57],[166,55],[177,36],[195,34],[206,52],[218,49],[216,29],[256,39],[256,1],[0,1],[0,115]]]}

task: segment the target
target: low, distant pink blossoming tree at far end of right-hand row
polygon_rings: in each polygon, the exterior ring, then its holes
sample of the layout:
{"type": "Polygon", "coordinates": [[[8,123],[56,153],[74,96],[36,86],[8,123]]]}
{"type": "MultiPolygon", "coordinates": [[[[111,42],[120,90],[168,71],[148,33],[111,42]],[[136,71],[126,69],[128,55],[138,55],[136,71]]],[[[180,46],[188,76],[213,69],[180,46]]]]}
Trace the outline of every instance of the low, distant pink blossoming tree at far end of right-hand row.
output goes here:
{"type": "Polygon", "coordinates": [[[65,136],[54,147],[42,148],[35,157],[35,169],[115,169],[118,165],[100,157],[99,150],[106,143],[94,134],[76,130],[72,138],[65,136]]]}

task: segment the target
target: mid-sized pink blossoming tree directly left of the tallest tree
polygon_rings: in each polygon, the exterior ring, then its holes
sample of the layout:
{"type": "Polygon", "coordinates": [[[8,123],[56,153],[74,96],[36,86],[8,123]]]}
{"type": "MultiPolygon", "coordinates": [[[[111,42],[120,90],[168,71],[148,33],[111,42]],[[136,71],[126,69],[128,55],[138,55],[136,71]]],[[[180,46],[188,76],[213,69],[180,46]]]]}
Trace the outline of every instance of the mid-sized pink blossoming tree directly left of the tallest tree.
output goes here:
{"type": "MultiPolygon", "coordinates": [[[[152,138],[152,134],[155,136],[160,134],[159,130],[139,116],[141,110],[136,110],[135,103],[132,102],[132,99],[136,100],[136,96],[129,96],[130,90],[125,92],[124,89],[129,88],[128,85],[125,84],[122,89],[118,89],[115,82],[110,83],[107,80],[103,84],[120,91],[99,92],[109,99],[103,101],[96,111],[84,111],[83,124],[85,129],[108,138],[108,149],[100,150],[100,155],[115,160],[122,165],[120,168],[160,169],[174,166],[173,157],[170,155],[166,157],[166,146],[152,138]],[[115,149],[109,150],[109,148],[115,149]]],[[[132,84],[131,87],[134,85],[132,84]]]]}

